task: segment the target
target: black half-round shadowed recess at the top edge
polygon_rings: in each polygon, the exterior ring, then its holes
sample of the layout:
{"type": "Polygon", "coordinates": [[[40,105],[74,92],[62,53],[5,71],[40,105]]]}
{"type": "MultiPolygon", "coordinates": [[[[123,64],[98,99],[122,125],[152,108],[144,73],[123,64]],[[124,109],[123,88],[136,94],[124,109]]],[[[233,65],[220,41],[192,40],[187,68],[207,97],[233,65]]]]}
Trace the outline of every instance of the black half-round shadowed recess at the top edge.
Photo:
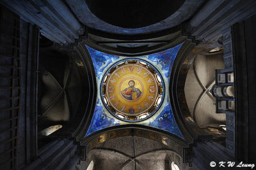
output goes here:
{"type": "Polygon", "coordinates": [[[109,24],[124,28],[140,28],[156,24],[179,10],[184,0],[154,1],[86,0],[94,15],[109,24]]]}

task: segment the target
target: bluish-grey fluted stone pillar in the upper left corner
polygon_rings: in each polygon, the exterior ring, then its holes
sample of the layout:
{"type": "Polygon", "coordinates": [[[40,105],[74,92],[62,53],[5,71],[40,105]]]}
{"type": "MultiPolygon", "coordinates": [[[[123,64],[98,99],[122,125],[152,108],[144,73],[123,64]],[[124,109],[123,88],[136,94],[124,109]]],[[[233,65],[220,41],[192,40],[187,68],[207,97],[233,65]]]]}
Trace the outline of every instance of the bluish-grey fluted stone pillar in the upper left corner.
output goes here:
{"type": "Polygon", "coordinates": [[[73,43],[83,34],[83,25],[63,1],[1,1],[27,22],[38,25],[42,34],[56,43],[73,43]]]}

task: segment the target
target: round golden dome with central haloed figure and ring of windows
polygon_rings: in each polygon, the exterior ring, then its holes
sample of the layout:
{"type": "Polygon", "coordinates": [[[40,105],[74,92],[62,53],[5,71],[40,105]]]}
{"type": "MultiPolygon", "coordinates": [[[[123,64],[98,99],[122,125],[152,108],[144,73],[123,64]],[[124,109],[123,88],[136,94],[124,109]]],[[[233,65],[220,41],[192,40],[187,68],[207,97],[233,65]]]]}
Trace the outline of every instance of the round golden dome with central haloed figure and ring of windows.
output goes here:
{"type": "Polygon", "coordinates": [[[154,115],[164,97],[163,78],[144,60],[122,60],[110,67],[101,84],[102,101],[108,111],[127,122],[154,115]]]}

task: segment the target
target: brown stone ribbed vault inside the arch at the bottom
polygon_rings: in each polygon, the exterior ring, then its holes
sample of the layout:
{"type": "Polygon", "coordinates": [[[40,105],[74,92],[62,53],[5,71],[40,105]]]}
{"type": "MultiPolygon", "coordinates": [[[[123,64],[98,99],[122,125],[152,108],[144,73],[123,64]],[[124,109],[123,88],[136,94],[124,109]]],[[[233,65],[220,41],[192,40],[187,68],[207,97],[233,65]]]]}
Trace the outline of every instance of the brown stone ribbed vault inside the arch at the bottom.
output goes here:
{"type": "Polygon", "coordinates": [[[179,153],[163,146],[163,144],[157,145],[156,141],[145,138],[141,139],[141,137],[137,136],[124,136],[106,141],[106,143],[102,143],[102,145],[93,148],[87,154],[86,159],[87,164],[89,164],[90,160],[94,160],[95,164],[96,162],[98,162],[98,164],[105,164],[107,167],[108,164],[115,164],[115,169],[129,169],[131,166],[134,166],[134,162],[136,162],[137,167],[140,166],[141,169],[148,169],[148,160],[152,160],[153,162],[160,161],[162,162],[162,166],[163,164],[171,166],[171,162],[175,162],[182,167],[182,157],[179,153]],[[134,151],[131,151],[132,146],[128,148],[122,147],[123,142],[126,144],[131,143],[132,145],[133,140],[137,141],[136,145],[134,145],[134,151]],[[146,143],[147,145],[145,145],[146,143]],[[145,146],[145,148],[141,149],[141,146],[145,146]],[[118,158],[118,160],[116,160],[116,158],[118,158]]]}

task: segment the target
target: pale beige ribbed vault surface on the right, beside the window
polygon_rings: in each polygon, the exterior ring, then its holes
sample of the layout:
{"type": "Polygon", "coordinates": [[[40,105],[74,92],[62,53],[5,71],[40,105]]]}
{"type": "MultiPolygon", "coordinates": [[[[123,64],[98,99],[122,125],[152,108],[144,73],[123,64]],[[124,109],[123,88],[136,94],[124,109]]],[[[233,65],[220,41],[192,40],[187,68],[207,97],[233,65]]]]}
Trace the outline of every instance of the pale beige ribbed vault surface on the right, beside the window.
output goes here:
{"type": "Polygon", "coordinates": [[[184,91],[191,116],[199,127],[225,124],[225,114],[216,113],[215,98],[209,92],[215,83],[215,69],[223,68],[221,53],[199,54],[189,68],[184,91]]]}

